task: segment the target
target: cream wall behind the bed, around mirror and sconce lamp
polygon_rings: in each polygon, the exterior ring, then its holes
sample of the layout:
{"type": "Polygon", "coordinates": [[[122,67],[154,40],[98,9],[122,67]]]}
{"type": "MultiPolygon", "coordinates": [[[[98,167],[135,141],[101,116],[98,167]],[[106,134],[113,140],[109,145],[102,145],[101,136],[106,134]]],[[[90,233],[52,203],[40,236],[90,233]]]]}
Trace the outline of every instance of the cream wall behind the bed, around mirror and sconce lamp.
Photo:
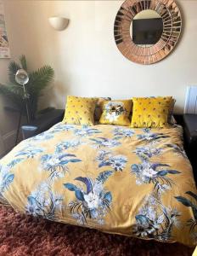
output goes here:
{"type": "MultiPolygon", "coordinates": [[[[55,70],[53,89],[45,94],[42,108],[48,104],[64,108],[68,94],[172,95],[177,99],[176,112],[182,112],[186,86],[197,84],[197,1],[177,1],[183,12],[183,37],[172,55],[152,66],[132,63],[116,48],[113,26],[122,1],[3,3],[12,57],[24,53],[32,69],[49,64],[55,70]],[[49,26],[52,15],[70,19],[65,31],[49,26]]],[[[7,66],[8,61],[0,59],[0,82],[7,79],[7,66]]],[[[0,111],[2,116],[1,107],[0,111]]]]}

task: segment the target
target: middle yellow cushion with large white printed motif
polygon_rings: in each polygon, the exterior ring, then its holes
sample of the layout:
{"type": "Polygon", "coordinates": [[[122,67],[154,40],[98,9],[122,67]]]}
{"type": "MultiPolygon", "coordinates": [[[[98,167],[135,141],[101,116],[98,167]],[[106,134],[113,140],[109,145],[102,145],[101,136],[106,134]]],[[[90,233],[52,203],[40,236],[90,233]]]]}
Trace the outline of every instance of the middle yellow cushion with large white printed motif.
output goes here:
{"type": "Polygon", "coordinates": [[[130,125],[129,114],[132,109],[131,100],[102,102],[103,113],[99,123],[103,125],[130,125]]]}

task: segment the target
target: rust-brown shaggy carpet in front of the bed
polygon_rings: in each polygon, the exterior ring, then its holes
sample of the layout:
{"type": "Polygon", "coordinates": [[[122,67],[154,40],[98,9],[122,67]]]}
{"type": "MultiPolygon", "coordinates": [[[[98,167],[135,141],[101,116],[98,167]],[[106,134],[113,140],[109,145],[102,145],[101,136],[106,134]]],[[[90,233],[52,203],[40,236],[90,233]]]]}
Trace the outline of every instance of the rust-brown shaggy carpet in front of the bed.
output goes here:
{"type": "Polygon", "coordinates": [[[59,224],[0,207],[0,256],[190,256],[194,249],[179,244],[108,235],[59,224]]]}

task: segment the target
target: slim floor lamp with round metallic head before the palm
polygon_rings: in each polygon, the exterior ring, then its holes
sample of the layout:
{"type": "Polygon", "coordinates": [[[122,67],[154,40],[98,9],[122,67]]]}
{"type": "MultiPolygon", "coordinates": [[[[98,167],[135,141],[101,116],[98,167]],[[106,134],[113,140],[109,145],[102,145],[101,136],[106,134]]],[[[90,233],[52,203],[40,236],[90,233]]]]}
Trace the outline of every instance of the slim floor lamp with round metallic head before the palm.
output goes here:
{"type": "Polygon", "coordinates": [[[26,73],[24,69],[19,69],[17,71],[17,73],[15,74],[15,81],[18,84],[23,86],[24,99],[25,99],[25,105],[23,105],[22,108],[20,109],[20,119],[19,119],[19,124],[18,124],[17,134],[16,134],[16,141],[15,141],[15,145],[16,145],[18,142],[18,137],[19,137],[19,132],[20,132],[20,122],[21,122],[21,117],[22,117],[24,108],[25,108],[25,112],[26,112],[27,123],[28,124],[30,123],[30,113],[29,113],[29,106],[28,106],[28,99],[29,99],[30,95],[27,93],[26,88],[25,88],[25,84],[27,84],[29,82],[28,73],[26,73]]]}

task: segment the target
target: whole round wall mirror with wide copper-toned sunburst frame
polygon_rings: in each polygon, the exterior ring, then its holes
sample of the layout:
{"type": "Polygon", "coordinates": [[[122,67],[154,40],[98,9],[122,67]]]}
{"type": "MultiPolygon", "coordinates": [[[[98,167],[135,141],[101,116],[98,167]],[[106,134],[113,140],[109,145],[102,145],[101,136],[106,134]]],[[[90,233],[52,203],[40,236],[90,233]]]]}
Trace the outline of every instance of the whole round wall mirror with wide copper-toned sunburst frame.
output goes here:
{"type": "Polygon", "coordinates": [[[152,64],[172,52],[181,28],[173,0],[126,0],[115,17],[115,43],[130,61],[152,64]]]}

